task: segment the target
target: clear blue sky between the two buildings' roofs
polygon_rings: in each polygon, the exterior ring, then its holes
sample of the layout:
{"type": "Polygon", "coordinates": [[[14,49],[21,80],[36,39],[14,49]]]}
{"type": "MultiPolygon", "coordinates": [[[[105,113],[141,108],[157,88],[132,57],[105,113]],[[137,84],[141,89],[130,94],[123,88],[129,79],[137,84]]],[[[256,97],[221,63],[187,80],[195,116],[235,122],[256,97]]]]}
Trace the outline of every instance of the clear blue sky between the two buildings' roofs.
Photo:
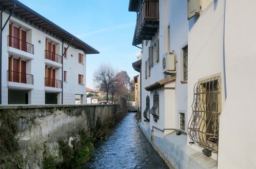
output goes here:
{"type": "Polygon", "coordinates": [[[88,88],[93,88],[93,73],[101,63],[110,62],[130,78],[139,74],[132,68],[138,48],[131,45],[136,13],[128,12],[129,0],[19,1],[100,52],[87,55],[88,88]]]}

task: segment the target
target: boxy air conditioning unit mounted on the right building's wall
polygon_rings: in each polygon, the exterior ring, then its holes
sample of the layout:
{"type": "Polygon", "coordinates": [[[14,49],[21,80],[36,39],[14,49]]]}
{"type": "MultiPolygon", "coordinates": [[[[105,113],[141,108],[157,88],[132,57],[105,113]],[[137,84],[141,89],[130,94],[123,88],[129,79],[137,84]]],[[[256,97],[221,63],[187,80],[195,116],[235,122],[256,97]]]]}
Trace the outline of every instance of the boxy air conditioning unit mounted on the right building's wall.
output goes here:
{"type": "Polygon", "coordinates": [[[173,51],[172,52],[166,52],[163,55],[162,66],[163,66],[163,74],[176,73],[175,53],[173,51]]]}

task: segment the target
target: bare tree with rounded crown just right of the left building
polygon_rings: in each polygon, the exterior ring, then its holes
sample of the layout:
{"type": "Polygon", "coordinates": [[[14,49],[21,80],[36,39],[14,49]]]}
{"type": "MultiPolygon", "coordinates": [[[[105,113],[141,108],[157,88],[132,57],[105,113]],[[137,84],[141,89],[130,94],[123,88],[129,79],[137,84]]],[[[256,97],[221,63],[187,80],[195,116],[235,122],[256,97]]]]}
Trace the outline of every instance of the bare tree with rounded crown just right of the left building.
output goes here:
{"type": "Polygon", "coordinates": [[[108,101],[108,95],[110,88],[116,81],[116,72],[110,64],[101,64],[99,68],[94,72],[94,81],[98,87],[107,93],[106,99],[108,101]]]}

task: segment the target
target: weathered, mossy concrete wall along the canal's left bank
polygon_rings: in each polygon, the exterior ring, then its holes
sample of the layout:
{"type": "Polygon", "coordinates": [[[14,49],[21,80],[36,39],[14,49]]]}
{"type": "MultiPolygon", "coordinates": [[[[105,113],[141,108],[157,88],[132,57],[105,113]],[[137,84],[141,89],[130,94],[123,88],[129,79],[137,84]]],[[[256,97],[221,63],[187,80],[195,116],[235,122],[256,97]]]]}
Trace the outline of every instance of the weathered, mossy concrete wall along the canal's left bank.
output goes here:
{"type": "MultiPolygon", "coordinates": [[[[44,151],[61,160],[59,140],[79,138],[78,133],[82,130],[88,139],[93,138],[97,121],[104,125],[106,120],[122,115],[113,104],[6,106],[0,111],[7,111],[17,118],[19,147],[13,156],[22,168],[42,168],[44,151]]],[[[5,158],[8,157],[12,158],[12,155],[5,158]]]]}

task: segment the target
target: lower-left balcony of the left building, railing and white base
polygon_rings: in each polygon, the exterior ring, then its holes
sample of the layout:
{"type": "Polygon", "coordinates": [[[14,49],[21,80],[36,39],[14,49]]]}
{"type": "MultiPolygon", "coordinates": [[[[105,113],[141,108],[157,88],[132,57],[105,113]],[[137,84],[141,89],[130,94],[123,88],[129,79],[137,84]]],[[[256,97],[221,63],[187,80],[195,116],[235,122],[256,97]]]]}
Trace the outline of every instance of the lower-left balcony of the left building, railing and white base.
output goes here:
{"type": "Polygon", "coordinates": [[[13,89],[33,89],[33,75],[7,71],[7,86],[13,89]]]}

